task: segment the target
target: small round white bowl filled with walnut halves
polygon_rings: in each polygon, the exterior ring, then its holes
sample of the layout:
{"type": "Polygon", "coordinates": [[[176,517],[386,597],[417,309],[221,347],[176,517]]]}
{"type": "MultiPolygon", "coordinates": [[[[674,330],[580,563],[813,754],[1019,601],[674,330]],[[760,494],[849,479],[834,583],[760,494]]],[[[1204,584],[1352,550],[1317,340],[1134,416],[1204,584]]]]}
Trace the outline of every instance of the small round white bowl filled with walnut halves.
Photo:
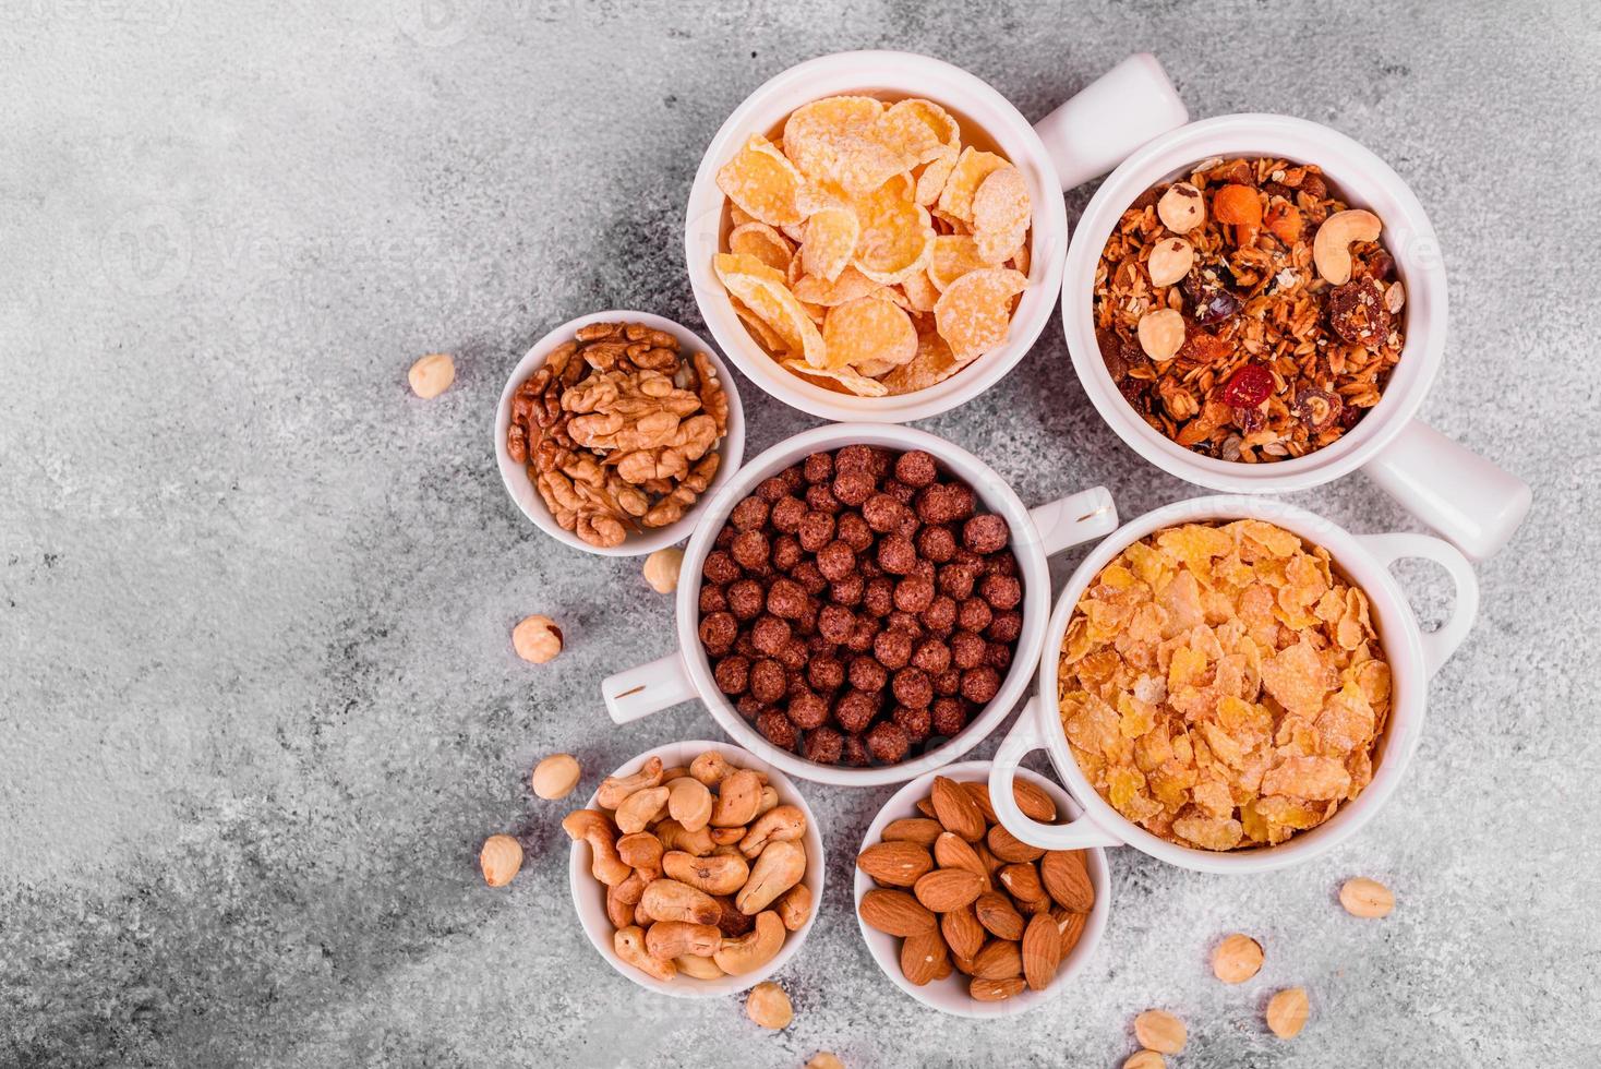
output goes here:
{"type": "Polygon", "coordinates": [[[744,459],[728,368],[648,312],[581,315],[512,370],[495,414],[501,480],[546,534],[605,557],[684,541],[744,459]]]}

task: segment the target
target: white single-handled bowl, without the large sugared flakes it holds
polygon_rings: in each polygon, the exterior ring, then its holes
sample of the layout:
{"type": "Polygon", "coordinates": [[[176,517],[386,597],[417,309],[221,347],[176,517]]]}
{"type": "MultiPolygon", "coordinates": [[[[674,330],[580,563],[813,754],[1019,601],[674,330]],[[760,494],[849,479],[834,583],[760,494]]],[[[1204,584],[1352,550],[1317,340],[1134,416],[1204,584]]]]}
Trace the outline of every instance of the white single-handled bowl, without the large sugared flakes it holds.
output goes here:
{"type": "Polygon", "coordinates": [[[908,422],[954,408],[1001,381],[1033,347],[1055,307],[1068,214],[1061,190],[1109,171],[1117,160],[1188,112],[1156,58],[1122,61],[1036,125],[988,82],[948,62],[900,51],[852,51],[809,59],[770,78],[728,115],[695,173],[684,219],[684,262],[701,318],[746,378],[800,411],[834,421],[908,422]],[[1034,205],[1028,290],[1004,346],[945,382],[898,397],[853,397],[778,365],[733,310],[712,258],[722,251],[724,195],[717,170],[751,134],[767,136],[792,110],[837,94],[921,96],[983,130],[1023,173],[1034,205]]]}

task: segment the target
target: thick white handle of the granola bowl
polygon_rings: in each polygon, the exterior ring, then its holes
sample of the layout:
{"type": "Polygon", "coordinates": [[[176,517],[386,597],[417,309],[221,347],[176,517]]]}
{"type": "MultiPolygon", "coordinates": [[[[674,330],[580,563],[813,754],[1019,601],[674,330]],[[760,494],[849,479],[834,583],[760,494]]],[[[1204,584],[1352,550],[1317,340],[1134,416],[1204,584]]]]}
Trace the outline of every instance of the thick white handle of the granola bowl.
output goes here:
{"type": "Polygon", "coordinates": [[[1473,560],[1499,554],[1534,499],[1526,482],[1418,419],[1362,470],[1473,560]]]}

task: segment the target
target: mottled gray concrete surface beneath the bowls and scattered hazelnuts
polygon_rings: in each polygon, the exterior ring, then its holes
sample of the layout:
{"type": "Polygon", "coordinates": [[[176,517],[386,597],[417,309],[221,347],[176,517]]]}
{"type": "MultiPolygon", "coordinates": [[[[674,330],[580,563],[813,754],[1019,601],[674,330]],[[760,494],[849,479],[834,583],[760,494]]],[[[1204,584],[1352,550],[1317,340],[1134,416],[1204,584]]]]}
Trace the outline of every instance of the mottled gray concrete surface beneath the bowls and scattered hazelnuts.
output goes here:
{"type": "MultiPolygon", "coordinates": [[[[0,1064],[1116,1066],[1151,1005],[1190,1026],[1175,1066],[1593,1063],[1598,50],[1580,0],[5,0],[0,1064]],[[679,227],[701,149],[768,75],[860,46],[951,59],[1031,117],[1148,48],[1198,117],[1374,147],[1451,270],[1425,414],[1537,506],[1362,837],[1236,880],[1116,851],[1098,957],[1017,1023],[877,973],[845,877],[890,791],[809,789],[831,888],[780,976],[796,1023],[762,1034],[736,999],[640,994],[575,923],[532,762],[572,751],[589,791],[716,728],[605,720],[597,680],[669,648],[668,603],[525,523],[488,424],[554,323],[700,326],[679,227]],[[437,349],[459,381],[423,403],[405,368],[437,349]],[[567,627],[551,666],[511,653],[530,611],[567,627]],[[474,856],[503,829],[532,850],[493,891],[474,856]],[[1351,874],[1396,914],[1343,915],[1351,874]],[[1266,946],[1244,987],[1206,965],[1233,930],[1266,946]],[[1287,984],[1313,1019],[1282,1043],[1260,1010],[1287,984]]],[[[744,402],[752,453],[810,424],[744,402]]],[[[1193,493],[1100,422],[1053,330],[925,426],[1025,498],[1193,493]]],[[[1298,501],[1412,526],[1361,477],[1298,501]]],[[[1439,619],[1443,578],[1404,578],[1439,619]]]]}

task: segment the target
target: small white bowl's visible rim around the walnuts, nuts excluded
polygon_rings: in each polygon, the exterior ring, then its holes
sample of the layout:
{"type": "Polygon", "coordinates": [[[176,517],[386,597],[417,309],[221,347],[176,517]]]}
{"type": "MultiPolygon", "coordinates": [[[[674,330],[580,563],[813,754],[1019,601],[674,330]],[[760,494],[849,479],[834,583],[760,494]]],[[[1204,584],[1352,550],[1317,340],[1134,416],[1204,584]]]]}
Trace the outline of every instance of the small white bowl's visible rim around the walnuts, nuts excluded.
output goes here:
{"type": "Polygon", "coordinates": [[[736,470],[740,470],[740,461],[744,459],[744,408],[740,405],[740,389],[735,386],[733,376],[728,373],[728,366],[717,355],[717,350],[701,341],[695,331],[687,330],[669,318],[652,315],[650,312],[591,312],[589,315],[580,315],[575,320],[562,323],[549,334],[536,341],[533,347],[524,354],[522,360],[517,362],[517,366],[512,368],[511,378],[506,379],[506,387],[501,390],[500,403],[495,406],[495,459],[500,464],[501,482],[506,485],[506,493],[511,494],[511,499],[519,509],[522,509],[522,514],[533,520],[535,526],[541,531],[556,541],[565,543],[573,549],[581,549],[586,554],[596,554],[599,557],[640,557],[644,554],[652,554],[663,546],[684,541],[684,538],[687,538],[690,530],[695,526],[695,518],[706,507],[706,502],[720,486],[727,485],[728,480],[733,478],[736,470]],[[511,454],[506,451],[506,432],[511,427],[512,394],[516,394],[517,387],[522,386],[527,378],[544,363],[552,349],[572,341],[573,333],[576,333],[580,326],[588,326],[589,323],[644,323],[652,330],[672,334],[679,339],[679,346],[685,355],[704,352],[711,357],[712,366],[717,368],[717,381],[722,382],[724,394],[728,397],[728,432],[724,434],[722,442],[717,443],[717,453],[722,454],[722,462],[717,464],[717,474],[712,475],[711,486],[706,488],[706,493],[701,494],[700,501],[696,501],[682,518],[668,523],[666,526],[632,533],[623,539],[621,546],[591,546],[557,523],[556,517],[551,515],[551,509],[544,504],[544,498],[541,498],[538,488],[535,488],[533,480],[528,478],[528,466],[511,459],[511,454]]]}

